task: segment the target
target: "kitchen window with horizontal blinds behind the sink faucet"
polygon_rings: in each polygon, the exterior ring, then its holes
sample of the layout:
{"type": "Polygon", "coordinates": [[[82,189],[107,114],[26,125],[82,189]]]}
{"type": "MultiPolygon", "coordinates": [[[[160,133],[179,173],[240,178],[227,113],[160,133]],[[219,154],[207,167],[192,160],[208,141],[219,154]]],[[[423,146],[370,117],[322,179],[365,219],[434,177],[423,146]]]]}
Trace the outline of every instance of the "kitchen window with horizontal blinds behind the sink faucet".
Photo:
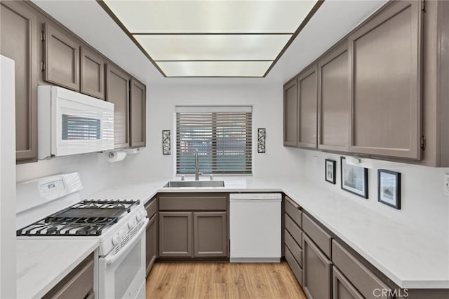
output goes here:
{"type": "Polygon", "coordinates": [[[252,107],[177,106],[176,173],[252,173],[252,107]]]}

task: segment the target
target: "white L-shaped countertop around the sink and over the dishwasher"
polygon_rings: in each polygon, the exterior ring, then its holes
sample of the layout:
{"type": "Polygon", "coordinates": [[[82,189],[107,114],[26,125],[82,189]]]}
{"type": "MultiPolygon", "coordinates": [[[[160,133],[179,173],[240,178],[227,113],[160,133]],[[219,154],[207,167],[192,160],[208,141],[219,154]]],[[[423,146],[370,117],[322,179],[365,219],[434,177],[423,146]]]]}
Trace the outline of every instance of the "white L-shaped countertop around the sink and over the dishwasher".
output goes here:
{"type": "Polygon", "coordinates": [[[114,194],[145,204],[156,193],[283,192],[401,288],[449,288],[449,236],[426,235],[307,179],[217,176],[225,187],[163,188],[170,180],[180,178],[128,179],[94,197],[114,194]]]}

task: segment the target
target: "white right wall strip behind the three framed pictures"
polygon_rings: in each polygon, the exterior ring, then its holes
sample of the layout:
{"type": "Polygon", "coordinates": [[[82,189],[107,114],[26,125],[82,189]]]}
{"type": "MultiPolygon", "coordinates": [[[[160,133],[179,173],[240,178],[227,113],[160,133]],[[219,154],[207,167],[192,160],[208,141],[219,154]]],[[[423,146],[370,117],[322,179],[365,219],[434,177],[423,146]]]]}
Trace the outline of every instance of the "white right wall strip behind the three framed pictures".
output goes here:
{"type": "Polygon", "coordinates": [[[435,168],[410,165],[381,160],[362,159],[373,165],[368,169],[368,200],[344,191],[340,188],[340,157],[331,153],[297,149],[303,158],[302,175],[311,179],[319,186],[339,193],[369,209],[409,225],[416,230],[422,230],[449,241],[449,196],[443,193],[443,174],[449,173],[449,168],[435,168]],[[316,167],[313,157],[318,159],[316,167]],[[328,183],[324,179],[325,159],[337,161],[336,183],[328,183]],[[377,169],[389,169],[401,172],[401,209],[397,210],[377,202],[377,169]]]}

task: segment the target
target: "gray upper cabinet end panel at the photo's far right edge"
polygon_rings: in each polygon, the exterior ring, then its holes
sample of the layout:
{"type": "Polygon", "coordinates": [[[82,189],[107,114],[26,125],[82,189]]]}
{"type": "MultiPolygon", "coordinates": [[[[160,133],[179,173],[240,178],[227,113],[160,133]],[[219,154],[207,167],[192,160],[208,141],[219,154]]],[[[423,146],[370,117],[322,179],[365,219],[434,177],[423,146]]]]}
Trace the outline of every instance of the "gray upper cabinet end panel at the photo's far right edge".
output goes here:
{"type": "Polygon", "coordinates": [[[449,167],[449,1],[426,1],[422,164],[449,167]]]}

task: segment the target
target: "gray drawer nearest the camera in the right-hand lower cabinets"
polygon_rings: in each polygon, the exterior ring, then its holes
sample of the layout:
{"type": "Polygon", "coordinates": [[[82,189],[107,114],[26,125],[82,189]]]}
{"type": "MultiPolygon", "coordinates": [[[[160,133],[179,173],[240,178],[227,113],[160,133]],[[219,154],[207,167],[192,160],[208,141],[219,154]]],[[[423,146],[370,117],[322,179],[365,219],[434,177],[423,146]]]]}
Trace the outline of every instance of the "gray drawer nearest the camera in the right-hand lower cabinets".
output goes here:
{"type": "MultiPolygon", "coordinates": [[[[344,274],[351,284],[353,284],[358,291],[365,298],[376,298],[373,294],[375,288],[390,290],[373,272],[371,272],[365,265],[363,265],[355,256],[344,249],[335,240],[332,242],[332,260],[338,269],[344,274]]],[[[386,295],[392,292],[387,292],[386,295]]],[[[377,298],[392,298],[377,297],[377,298]]]]}

